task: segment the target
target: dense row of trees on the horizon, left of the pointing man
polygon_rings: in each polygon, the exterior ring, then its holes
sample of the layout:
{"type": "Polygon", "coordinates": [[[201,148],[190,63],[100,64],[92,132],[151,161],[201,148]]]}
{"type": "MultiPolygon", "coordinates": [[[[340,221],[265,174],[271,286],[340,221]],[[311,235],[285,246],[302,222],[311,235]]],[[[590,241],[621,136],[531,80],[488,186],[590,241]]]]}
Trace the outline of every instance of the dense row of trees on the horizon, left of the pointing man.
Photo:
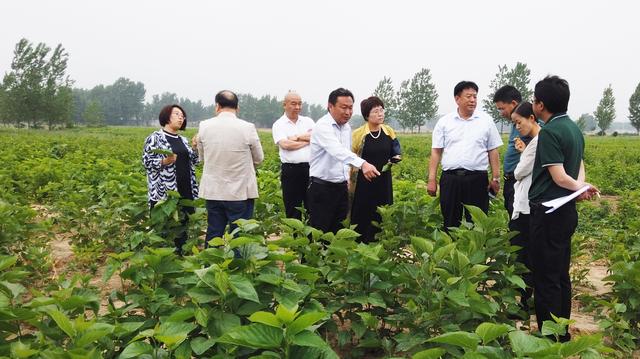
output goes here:
{"type": "MultiPolygon", "coordinates": [[[[198,122],[214,115],[214,106],[175,93],[153,95],[145,102],[142,82],[121,77],[111,85],[92,89],[72,88],[66,75],[69,55],[58,45],[53,52],[44,43],[22,39],[14,49],[11,70],[0,84],[0,121],[5,125],[39,128],[56,126],[152,125],[160,109],[180,104],[189,120],[198,122]]],[[[282,100],[265,95],[239,94],[241,115],[259,127],[270,127],[282,115],[282,100]]],[[[320,118],[326,107],[304,103],[302,113],[320,118]]]]}

